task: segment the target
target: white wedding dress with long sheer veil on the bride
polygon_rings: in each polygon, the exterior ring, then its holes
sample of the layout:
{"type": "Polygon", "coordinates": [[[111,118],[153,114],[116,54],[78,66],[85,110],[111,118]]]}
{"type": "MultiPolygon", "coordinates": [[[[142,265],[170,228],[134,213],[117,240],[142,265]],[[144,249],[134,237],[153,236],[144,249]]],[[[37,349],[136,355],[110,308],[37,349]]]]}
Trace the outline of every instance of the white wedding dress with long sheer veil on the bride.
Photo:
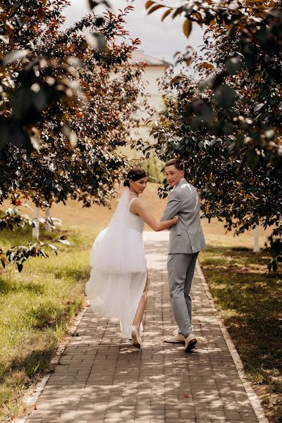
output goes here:
{"type": "Polygon", "coordinates": [[[125,188],[109,226],[99,233],[90,252],[90,279],[85,293],[94,313],[120,320],[121,336],[130,338],[131,326],[147,281],[142,232],[144,221],[130,213],[125,188]]]}

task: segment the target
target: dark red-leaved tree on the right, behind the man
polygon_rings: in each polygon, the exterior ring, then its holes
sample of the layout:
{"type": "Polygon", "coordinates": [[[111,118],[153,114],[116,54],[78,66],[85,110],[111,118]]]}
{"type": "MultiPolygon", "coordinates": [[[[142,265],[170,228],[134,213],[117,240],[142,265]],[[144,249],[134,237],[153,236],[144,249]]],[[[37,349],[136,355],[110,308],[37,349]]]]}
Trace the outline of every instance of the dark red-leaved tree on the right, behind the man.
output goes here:
{"type": "Polygon", "coordinates": [[[206,25],[201,54],[182,60],[185,74],[164,81],[166,109],[152,133],[159,157],[182,158],[201,191],[204,214],[242,233],[274,228],[269,270],[282,261],[282,8],[278,1],[183,1],[149,13],[184,16],[183,32],[206,25]]]}

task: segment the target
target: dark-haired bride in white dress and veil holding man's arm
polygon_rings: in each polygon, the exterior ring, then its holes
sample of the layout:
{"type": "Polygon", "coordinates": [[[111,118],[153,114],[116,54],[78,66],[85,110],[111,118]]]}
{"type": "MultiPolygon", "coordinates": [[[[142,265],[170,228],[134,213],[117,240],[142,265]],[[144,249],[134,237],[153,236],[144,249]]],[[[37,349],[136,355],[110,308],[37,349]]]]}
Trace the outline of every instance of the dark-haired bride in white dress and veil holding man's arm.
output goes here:
{"type": "Polygon", "coordinates": [[[125,190],[109,226],[99,233],[90,253],[90,279],[86,295],[93,312],[120,320],[121,336],[140,348],[140,330],[147,297],[147,264],[142,232],[146,222],[154,231],[164,231],[178,217],[157,221],[139,195],[147,185],[144,169],[128,172],[125,190]]]}

